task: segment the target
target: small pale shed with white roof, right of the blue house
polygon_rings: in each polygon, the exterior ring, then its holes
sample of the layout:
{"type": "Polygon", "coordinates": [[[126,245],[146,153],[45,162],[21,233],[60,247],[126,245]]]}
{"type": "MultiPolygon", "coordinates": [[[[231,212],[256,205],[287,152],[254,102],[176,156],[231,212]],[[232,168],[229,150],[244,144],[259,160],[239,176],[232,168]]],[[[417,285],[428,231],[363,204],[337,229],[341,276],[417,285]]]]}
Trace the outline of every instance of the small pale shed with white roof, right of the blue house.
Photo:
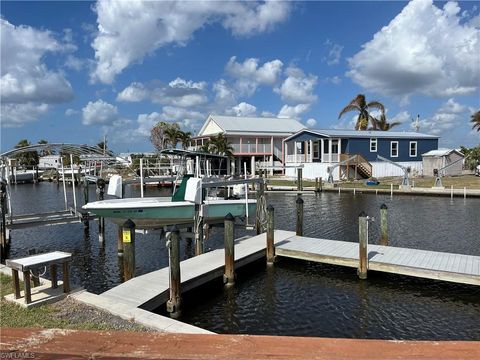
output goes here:
{"type": "Polygon", "coordinates": [[[461,175],[465,156],[455,149],[431,150],[422,155],[423,175],[433,176],[433,170],[440,170],[439,175],[461,175]],[[448,167],[447,167],[448,166],[448,167]],[[446,167],[446,168],[445,168],[446,167]],[[441,170],[445,168],[444,170],[441,170]]]}

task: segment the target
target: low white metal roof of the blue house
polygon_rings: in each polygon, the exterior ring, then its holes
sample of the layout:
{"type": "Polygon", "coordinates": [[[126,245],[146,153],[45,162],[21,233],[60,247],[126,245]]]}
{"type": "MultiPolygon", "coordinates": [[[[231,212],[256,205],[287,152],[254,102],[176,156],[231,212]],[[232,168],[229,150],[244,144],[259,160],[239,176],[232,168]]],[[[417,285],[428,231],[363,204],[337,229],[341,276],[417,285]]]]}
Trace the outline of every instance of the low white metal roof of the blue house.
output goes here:
{"type": "Polygon", "coordinates": [[[306,131],[315,135],[336,138],[395,138],[395,139],[438,139],[438,136],[421,134],[413,131],[380,131],[380,130],[344,130],[344,129],[302,129],[289,136],[288,141],[299,133],[306,131]]]}

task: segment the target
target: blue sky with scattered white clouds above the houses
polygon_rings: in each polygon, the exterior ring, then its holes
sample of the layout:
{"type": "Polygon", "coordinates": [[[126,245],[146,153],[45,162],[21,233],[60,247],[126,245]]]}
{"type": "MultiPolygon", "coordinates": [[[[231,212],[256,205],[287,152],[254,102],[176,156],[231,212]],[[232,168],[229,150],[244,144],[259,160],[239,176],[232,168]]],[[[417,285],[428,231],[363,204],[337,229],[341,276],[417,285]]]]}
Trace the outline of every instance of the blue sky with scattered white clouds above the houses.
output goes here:
{"type": "MultiPolygon", "coordinates": [[[[338,118],[357,94],[398,131],[475,146],[475,1],[1,1],[1,151],[21,139],[152,151],[151,128],[209,114],[338,118]]],[[[375,112],[374,112],[375,114],[375,112]]],[[[261,120],[260,120],[261,121],[261,120]]],[[[285,120],[279,120],[285,121],[285,120]]]]}

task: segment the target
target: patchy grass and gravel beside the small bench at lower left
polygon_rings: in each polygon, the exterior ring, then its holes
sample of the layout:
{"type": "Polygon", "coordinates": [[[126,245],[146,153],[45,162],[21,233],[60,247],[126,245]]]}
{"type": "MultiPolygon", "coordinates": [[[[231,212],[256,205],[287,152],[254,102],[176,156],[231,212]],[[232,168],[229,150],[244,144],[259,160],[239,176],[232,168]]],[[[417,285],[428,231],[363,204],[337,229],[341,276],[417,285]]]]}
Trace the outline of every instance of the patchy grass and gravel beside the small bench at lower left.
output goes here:
{"type": "MultiPolygon", "coordinates": [[[[26,309],[4,299],[13,292],[13,280],[0,274],[1,327],[40,327],[74,330],[129,330],[148,331],[134,322],[120,319],[67,298],[54,304],[26,309]]],[[[21,284],[23,287],[23,283],[21,284]]]]}

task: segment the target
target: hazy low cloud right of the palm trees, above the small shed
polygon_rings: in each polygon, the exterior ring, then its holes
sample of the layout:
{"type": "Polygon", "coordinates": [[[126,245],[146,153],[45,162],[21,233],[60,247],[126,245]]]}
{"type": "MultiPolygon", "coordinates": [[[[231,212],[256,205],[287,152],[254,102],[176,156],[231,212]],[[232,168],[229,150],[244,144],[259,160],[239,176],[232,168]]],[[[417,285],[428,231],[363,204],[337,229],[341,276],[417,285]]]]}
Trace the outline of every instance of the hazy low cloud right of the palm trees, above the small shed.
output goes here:
{"type": "MultiPolygon", "coordinates": [[[[448,99],[432,117],[419,121],[419,131],[433,135],[446,134],[462,122],[466,122],[468,114],[470,114],[468,107],[457,103],[453,98],[448,99]]],[[[410,126],[414,129],[414,123],[410,126]]]]}

